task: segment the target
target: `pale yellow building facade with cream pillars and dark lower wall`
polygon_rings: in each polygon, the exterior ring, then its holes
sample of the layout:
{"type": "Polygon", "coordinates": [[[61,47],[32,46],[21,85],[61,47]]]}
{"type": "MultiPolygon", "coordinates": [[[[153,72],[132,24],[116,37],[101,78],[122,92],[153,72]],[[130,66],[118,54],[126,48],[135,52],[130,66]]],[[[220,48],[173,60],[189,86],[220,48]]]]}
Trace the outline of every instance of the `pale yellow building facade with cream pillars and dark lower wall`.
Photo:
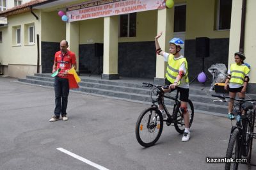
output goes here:
{"type": "MultiPolygon", "coordinates": [[[[77,71],[81,73],[102,73],[103,79],[147,77],[163,82],[166,63],[156,56],[154,46],[154,37],[163,31],[159,43],[164,51],[168,51],[168,42],[173,37],[185,41],[182,54],[188,59],[190,79],[203,69],[207,72],[207,68],[216,63],[228,67],[234,63],[234,52],[243,50],[246,62],[252,66],[250,91],[253,92],[256,82],[253,6],[256,1],[246,1],[246,16],[242,19],[244,1],[175,0],[175,6],[170,9],[134,12],[124,8],[136,3],[132,0],[108,1],[109,7],[105,4],[104,8],[97,6],[103,6],[106,1],[34,0],[22,8],[0,13],[0,17],[8,20],[8,24],[0,26],[0,63],[4,74],[12,77],[51,72],[54,52],[59,50],[60,41],[66,39],[70,50],[78,56],[77,71]],[[90,6],[92,3],[97,6],[90,6]],[[113,15],[104,13],[105,8],[114,7],[113,15]],[[92,10],[86,10],[90,8],[103,14],[94,15],[92,10]],[[60,10],[66,12],[67,22],[58,15],[60,10]],[[74,18],[74,11],[81,15],[74,18]],[[209,55],[205,56],[204,63],[202,56],[196,55],[196,40],[202,37],[209,38],[209,55]]],[[[145,8],[148,2],[161,5],[160,1],[141,1],[145,8]]]]}

